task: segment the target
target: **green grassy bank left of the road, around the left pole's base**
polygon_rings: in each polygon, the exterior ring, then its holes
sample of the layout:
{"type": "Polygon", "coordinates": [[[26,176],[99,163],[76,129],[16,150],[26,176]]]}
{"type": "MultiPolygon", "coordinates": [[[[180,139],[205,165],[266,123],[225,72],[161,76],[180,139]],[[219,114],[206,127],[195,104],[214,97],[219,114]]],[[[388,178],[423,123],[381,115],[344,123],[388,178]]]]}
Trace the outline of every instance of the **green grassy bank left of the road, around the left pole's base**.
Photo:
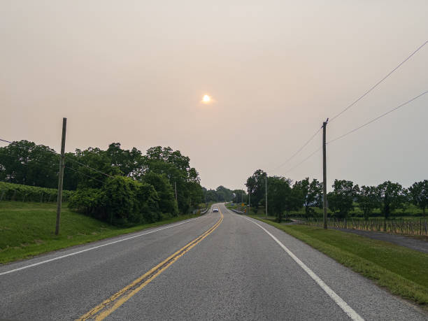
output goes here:
{"type": "Polygon", "coordinates": [[[60,232],[55,236],[56,204],[1,201],[0,264],[191,217],[195,215],[120,228],[70,211],[64,204],[60,232]]]}

